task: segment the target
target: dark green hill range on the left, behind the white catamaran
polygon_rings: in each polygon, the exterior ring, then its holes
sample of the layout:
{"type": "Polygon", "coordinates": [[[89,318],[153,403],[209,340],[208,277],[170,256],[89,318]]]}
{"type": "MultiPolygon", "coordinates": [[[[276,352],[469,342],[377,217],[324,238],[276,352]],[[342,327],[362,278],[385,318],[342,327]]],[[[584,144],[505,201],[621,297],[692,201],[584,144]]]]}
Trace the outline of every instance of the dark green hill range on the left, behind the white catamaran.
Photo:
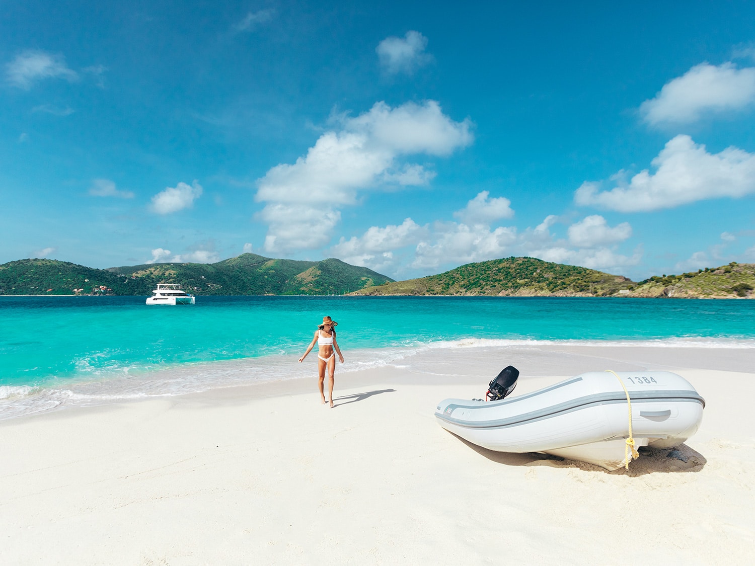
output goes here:
{"type": "Polygon", "coordinates": [[[217,263],[153,263],[92,269],[57,260],[0,266],[0,294],[149,295],[158,283],[178,283],[202,295],[343,294],[393,279],[341,260],[276,260],[242,254],[217,263]],[[81,291],[76,291],[81,290],[81,291]]]}

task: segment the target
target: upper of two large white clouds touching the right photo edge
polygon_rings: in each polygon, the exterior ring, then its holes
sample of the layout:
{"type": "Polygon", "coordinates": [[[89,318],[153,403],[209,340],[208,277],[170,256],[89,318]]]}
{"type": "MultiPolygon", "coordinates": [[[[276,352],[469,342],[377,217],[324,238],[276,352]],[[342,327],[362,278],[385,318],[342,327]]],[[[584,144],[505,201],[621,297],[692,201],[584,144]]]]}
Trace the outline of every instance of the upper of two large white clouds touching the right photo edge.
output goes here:
{"type": "Polygon", "coordinates": [[[755,68],[734,63],[701,63],[667,82],[655,98],[639,106],[646,122],[695,122],[703,112],[738,110],[755,102],[755,68]]]}

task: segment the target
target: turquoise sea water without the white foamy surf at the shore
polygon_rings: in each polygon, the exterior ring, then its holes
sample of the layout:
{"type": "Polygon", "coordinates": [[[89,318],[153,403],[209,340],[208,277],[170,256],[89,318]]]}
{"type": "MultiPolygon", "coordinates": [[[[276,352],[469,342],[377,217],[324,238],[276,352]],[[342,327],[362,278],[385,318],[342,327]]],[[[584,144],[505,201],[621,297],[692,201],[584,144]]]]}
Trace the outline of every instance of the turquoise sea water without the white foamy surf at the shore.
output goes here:
{"type": "Polygon", "coordinates": [[[342,349],[460,339],[755,339],[753,300],[540,297],[0,297],[0,386],[60,386],[303,352],[323,315],[342,349]]]}

